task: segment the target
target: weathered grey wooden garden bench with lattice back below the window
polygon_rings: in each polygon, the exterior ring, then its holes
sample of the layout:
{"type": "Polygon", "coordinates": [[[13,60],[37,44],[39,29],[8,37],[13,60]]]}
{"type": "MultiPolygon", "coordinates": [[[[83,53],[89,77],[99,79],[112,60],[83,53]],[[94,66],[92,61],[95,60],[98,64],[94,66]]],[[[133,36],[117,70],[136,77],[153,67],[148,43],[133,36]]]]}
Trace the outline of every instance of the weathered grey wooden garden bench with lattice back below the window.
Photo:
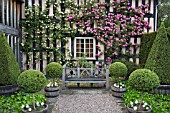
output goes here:
{"type": "Polygon", "coordinates": [[[68,68],[63,66],[62,89],[66,88],[67,83],[104,83],[109,89],[109,70],[104,68],[68,68]]]}

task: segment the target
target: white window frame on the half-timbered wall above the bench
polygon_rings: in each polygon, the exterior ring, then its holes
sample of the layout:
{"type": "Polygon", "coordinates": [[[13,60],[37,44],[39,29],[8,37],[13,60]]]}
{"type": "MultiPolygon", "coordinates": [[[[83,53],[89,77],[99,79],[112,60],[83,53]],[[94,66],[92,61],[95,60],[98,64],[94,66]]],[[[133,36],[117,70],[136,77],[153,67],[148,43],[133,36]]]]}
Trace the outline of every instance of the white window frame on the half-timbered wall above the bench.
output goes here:
{"type": "Polygon", "coordinates": [[[77,59],[77,58],[82,58],[82,57],[77,57],[76,56],[76,53],[77,53],[77,51],[76,51],[76,49],[77,49],[77,46],[76,46],[76,40],[77,39],[84,39],[84,53],[86,53],[86,39],[93,39],[93,57],[86,57],[86,59],[87,60],[96,60],[96,56],[95,56],[95,54],[96,54],[96,40],[95,40],[95,38],[94,37],[75,37],[74,38],[74,58],[75,59],[77,59]]]}

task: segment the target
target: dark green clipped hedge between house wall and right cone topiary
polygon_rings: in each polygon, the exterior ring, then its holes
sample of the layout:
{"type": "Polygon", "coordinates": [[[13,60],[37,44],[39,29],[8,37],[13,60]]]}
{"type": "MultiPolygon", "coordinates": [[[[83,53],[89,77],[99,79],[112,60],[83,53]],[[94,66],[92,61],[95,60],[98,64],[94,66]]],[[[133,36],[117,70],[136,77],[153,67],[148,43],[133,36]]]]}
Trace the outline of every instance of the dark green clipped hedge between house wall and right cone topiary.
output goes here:
{"type": "Polygon", "coordinates": [[[144,34],[141,37],[140,51],[139,51],[139,64],[141,67],[145,66],[153,41],[156,37],[156,32],[144,34]]]}

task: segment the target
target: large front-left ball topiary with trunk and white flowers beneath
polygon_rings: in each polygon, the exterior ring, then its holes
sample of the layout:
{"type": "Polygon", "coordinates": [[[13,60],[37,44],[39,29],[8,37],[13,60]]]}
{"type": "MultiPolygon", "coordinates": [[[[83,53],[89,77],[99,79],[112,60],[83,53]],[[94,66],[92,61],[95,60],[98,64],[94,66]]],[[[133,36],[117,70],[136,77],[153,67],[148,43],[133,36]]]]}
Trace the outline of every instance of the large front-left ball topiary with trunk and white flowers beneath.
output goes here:
{"type": "Polygon", "coordinates": [[[36,102],[34,96],[34,93],[45,86],[45,75],[37,70],[26,70],[20,74],[17,82],[21,90],[32,94],[32,104],[22,105],[22,113],[47,113],[48,105],[45,102],[36,102]]]}

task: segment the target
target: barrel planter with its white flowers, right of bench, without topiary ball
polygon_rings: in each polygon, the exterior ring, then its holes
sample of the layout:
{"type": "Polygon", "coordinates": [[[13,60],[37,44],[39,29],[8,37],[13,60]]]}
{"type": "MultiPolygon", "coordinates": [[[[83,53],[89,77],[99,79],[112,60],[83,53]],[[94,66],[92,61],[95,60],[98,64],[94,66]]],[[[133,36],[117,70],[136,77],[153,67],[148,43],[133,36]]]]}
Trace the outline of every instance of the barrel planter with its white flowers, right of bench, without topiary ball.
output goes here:
{"type": "Polygon", "coordinates": [[[126,92],[126,88],[124,84],[121,84],[120,86],[120,84],[117,85],[117,83],[111,86],[111,90],[112,90],[112,95],[115,97],[122,97],[122,95],[126,92]]]}

